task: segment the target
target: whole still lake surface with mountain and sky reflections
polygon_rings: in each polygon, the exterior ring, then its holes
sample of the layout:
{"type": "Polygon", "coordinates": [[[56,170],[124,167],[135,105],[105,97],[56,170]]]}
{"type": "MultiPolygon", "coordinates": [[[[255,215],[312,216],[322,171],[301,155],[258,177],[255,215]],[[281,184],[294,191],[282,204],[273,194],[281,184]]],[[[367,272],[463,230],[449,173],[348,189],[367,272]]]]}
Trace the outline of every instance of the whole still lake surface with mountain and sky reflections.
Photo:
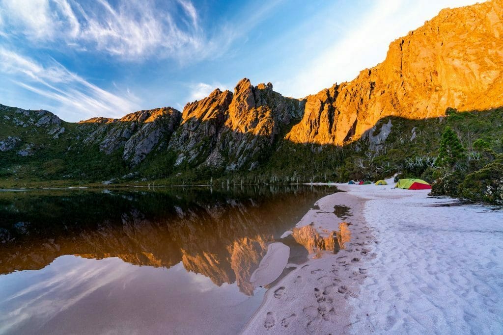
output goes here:
{"type": "Polygon", "coordinates": [[[268,245],[334,191],[0,192],[0,333],[235,333],[268,245]]]}

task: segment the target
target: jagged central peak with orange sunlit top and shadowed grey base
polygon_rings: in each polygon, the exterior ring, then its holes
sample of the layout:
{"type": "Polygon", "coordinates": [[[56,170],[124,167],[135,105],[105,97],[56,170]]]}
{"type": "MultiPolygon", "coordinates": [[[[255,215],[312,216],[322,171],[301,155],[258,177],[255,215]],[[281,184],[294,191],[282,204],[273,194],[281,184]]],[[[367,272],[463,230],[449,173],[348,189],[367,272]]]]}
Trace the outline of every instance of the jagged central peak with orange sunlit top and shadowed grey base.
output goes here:
{"type": "Polygon", "coordinates": [[[244,78],[234,93],[216,89],[188,103],[170,149],[178,154],[177,165],[253,169],[301,113],[300,102],[273,91],[271,83],[253,86],[244,78]]]}

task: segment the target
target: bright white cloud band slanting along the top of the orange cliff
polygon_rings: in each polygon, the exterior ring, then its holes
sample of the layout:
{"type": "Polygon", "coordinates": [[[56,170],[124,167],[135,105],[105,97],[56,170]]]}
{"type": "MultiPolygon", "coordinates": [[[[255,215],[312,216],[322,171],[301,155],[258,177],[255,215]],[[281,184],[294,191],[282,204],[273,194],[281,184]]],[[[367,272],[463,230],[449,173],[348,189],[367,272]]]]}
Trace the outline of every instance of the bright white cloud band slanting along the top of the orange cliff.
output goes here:
{"type": "Polygon", "coordinates": [[[299,66],[293,78],[276,82],[275,87],[285,95],[303,97],[336,81],[352,80],[361,70],[382,62],[390,42],[422,26],[441,9],[473,3],[473,0],[379,0],[345,28],[342,38],[328,45],[309,63],[299,66]]]}

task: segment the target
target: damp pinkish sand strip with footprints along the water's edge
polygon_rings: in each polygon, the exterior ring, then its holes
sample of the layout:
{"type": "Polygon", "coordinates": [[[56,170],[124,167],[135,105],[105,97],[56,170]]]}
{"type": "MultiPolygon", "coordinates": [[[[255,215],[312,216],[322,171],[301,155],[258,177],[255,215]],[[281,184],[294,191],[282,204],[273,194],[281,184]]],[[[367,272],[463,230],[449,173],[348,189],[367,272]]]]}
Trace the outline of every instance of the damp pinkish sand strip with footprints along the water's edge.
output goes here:
{"type": "MultiPolygon", "coordinates": [[[[345,187],[338,184],[339,189],[345,187]]],[[[338,231],[341,222],[350,226],[351,239],[336,254],[310,253],[301,265],[288,264],[290,271],[266,292],[264,301],[242,330],[254,333],[340,333],[348,325],[351,309],[346,302],[358,295],[358,285],[367,276],[365,259],[373,257],[372,232],[363,219],[365,200],[349,192],[336,192],[316,201],[295,229],[315,222],[320,235],[338,231]],[[334,206],[351,208],[339,217],[334,206]],[[318,208],[316,208],[318,207],[318,208]],[[315,257],[315,258],[313,258],[315,257]]],[[[282,237],[291,235],[286,232],[282,237]]]]}

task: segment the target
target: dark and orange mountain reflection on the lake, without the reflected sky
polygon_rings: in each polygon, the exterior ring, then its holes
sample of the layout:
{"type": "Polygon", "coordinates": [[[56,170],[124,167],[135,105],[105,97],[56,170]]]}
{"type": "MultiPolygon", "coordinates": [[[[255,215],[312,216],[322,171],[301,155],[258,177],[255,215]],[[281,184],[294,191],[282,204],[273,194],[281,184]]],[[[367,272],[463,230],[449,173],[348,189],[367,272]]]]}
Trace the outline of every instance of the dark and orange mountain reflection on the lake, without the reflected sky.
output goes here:
{"type": "Polygon", "coordinates": [[[218,286],[235,282],[253,295],[248,280],[268,244],[333,191],[281,186],[0,192],[0,274],[42,269],[62,255],[118,257],[164,268],[182,262],[218,286]]]}

